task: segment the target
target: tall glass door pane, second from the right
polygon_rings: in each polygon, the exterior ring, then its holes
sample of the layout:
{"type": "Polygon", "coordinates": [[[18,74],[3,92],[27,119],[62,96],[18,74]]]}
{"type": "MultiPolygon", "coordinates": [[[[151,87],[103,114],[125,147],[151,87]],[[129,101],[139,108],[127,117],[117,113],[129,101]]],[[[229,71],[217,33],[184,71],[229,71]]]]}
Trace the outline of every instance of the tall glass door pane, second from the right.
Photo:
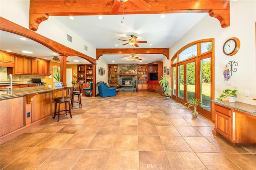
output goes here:
{"type": "Polygon", "coordinates": [[[186,101],[196,98],[196,62],[186,64],[186,101]]]}

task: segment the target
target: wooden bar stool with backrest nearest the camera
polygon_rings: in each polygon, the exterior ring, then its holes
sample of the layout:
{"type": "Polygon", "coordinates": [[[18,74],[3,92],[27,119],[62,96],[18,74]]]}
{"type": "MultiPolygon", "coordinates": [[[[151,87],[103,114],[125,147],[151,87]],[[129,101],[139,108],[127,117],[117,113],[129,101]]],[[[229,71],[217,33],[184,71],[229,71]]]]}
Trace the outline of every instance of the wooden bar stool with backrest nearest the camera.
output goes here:
{"type": "Polygon", "coordinates": [[[57,97],[54,98],[54,102],[55,102],[55,109],[54,109],[54,115],[53,115],[53,119],[55,118],[56,115],[58,115],[58,121],[60,120],[60,115],[70,115],[70,117],[72,118],[72,114],[71,114],[71,107],[70,107],[70,100],[72,100],[72,92],[73,92],[74,87],[63,87],[62,89],[62,96],[61,97],[57,97]],[[65,103],[65,109],[64,110],[60,110],[60,104],[65,103]],[[58,106],[58,112],[57,112],[57,104],[59,104],[58,106]],[[67,104],[68,104],[68,108],[67,108],[67,104]],[[64,113],[61,113],[64,112],[64,113]]]}

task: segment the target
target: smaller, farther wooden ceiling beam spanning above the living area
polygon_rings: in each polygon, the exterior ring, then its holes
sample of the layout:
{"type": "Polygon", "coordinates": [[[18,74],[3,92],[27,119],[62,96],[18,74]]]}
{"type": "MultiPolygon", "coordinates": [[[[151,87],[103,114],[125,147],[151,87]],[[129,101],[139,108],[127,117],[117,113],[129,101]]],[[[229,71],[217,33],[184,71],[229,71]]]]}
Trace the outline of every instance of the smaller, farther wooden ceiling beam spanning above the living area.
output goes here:
{"type": "Polygon", "coordinates": [[[163,54],[169,60],[169,48],[152,49],[96,49],[96,60],[104,54],[163,54]]]}

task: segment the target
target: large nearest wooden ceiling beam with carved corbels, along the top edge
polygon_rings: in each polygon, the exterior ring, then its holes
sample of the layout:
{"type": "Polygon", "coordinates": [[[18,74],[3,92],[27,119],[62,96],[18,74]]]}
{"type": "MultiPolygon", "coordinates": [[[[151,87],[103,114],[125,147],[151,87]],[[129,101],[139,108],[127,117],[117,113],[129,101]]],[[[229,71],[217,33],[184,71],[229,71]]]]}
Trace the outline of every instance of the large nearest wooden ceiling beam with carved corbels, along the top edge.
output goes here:
{"type": "MultiPolygon", "coordinates": [[[[124,14],[208,12],[223,28],[230,25],[229,0],[144,0],[150,5],[148,10],[132,1],[124,2],[124,14]]],[[[110,15],[113,5],[114,0],[30,0],[29,28],[36,31],[49,16],[110,15]]],[[[121,14],[121,8],[116,14],[121,14]]]]}

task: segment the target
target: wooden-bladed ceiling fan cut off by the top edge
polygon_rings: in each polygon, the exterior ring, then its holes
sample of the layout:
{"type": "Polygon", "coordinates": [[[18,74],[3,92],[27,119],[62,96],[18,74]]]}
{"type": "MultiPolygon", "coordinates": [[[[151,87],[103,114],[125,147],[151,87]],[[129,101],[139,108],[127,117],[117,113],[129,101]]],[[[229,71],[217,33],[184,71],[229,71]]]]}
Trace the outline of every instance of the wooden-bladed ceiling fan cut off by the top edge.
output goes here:
{"type": "Polygon", "coordinates": [[[144,0],[114,0],[112,9],[110,14],[117,14],[119,11],[119,8],[121,6],[122,3],[127,3],[127,5],[129,5],[129,3],[137,6],[138,8],[142,9],[143,11],[148,11],[150,8],[150,4],[146,3],[144,0]]]}

